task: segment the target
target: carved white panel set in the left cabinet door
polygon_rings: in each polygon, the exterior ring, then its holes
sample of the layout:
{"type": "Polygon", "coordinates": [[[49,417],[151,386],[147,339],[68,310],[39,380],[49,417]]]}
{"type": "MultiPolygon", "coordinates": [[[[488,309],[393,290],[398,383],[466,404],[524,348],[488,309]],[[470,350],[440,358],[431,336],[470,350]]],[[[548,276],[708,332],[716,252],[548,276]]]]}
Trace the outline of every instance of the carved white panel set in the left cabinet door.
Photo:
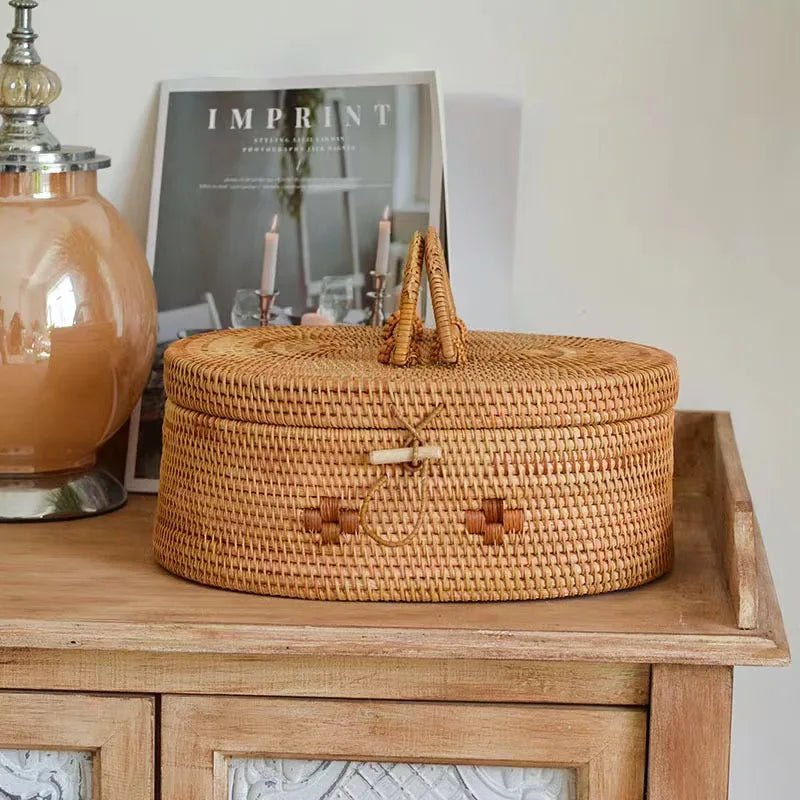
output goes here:
{"type": "Polygon", "coordinates": [[[0,800],[92,800],[92,754],[0,750],[0,800]]]}

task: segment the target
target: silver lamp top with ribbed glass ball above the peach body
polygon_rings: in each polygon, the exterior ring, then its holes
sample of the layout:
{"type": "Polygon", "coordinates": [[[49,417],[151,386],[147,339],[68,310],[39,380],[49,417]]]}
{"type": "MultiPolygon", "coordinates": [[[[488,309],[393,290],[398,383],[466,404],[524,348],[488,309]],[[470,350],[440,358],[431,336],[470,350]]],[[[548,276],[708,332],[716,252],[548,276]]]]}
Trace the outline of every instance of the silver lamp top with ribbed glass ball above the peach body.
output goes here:
{"type": "Polygon", "coordinates": [[[61,79],[36,52],[33,9],[38,0],[9,0],[14,27],[0,63],[0,172],[95,170],[110,163],[88,147],[62,147],[45,125],[61,79]]]}

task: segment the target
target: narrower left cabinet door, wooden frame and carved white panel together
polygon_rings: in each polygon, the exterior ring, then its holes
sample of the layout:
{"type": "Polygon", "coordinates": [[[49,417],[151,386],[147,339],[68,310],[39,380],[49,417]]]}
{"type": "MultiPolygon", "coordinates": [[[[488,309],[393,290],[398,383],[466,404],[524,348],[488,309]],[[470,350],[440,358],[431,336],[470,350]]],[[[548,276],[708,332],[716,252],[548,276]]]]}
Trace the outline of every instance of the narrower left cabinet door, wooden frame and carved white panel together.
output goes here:
{"type": "Polygon", "coordinates": [[[153,700],[0,692],[0,800],[152,800],[153,700]]]}

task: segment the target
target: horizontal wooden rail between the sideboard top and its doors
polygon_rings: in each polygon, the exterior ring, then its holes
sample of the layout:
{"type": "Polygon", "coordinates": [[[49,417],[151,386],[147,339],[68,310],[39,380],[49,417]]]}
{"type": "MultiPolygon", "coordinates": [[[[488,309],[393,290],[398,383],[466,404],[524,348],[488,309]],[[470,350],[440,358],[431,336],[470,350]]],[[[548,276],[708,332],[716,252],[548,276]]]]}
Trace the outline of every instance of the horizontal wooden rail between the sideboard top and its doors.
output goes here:
{"type": "Polygon", "coordinates": [[[554,661],[0,650],[0,688],[644,706],[650,667],[554,661]]]}

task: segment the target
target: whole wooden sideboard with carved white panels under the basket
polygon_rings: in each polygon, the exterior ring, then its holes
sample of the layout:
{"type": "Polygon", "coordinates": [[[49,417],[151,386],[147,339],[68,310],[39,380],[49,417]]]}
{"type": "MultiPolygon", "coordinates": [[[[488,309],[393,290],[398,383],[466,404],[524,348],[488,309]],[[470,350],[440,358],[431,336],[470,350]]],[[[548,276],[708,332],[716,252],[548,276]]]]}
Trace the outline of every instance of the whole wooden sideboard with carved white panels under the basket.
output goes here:
{"type": "Polygon", "coordinates": [[[729,417],[676,455],[673,571],[591,598],[206,588],[152,497],[0,527],[0,798],[722,800],[733,667],[789,651],[729,417]]]}

